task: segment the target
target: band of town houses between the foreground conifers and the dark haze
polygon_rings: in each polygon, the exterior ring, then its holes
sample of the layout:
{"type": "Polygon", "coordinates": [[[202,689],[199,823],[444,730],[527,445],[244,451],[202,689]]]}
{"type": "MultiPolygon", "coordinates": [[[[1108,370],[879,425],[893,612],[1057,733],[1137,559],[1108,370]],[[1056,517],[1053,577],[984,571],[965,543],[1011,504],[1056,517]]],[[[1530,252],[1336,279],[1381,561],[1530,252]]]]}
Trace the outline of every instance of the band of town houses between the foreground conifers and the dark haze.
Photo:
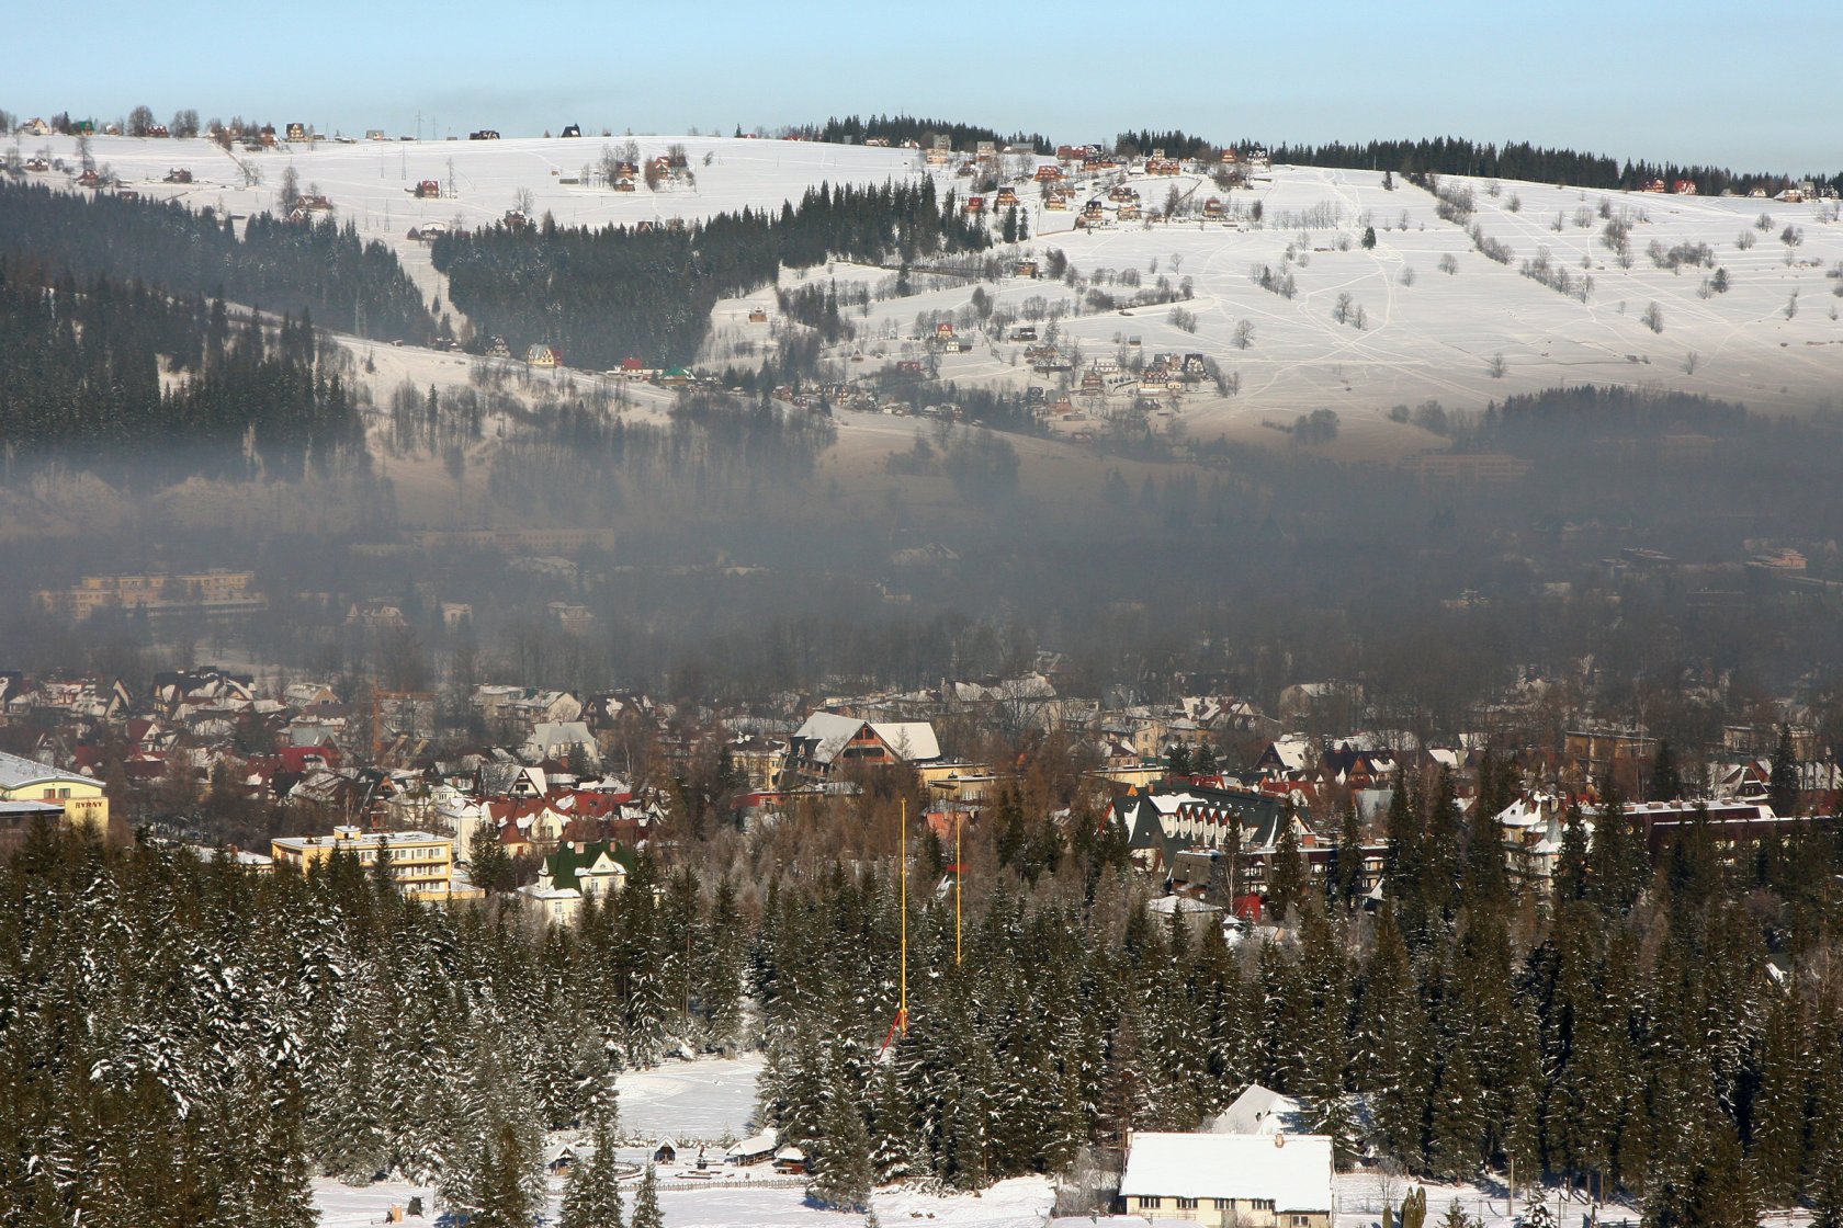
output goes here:
{"type": "MultiPolygon", "coordinates": [[[[1524,678],[1480,720],[1515,722],[1550,690],[1524,678]]],[[[135,694],[116,679],[0,672],[0,731],[20,751],[0,757],[0,838],[18,840],[41,816],[107,830],[111,814],[123,823],[135,814],[157,836],[221,845],[194,816],[241,806],[265,827],[252,847],[227,849],[245,865],[306,867],[345,849],[367,863],[389,860],[405,891],[437,902],[477,897],[470,862],[496,845],[522,867],[520,898],[568,924],[582,900],[623,887],[638,849],[673,838],[673,784],[698,757],[724,762],[721,805],[745,828],[850,799],[864,773],[903,770],[914,773],[927,823],[947,834],[979,823],[1017,784],[1021,764],[944,747],[942,729],[980,729],[1058,735],[1045,746],[1080,759],[1104,821],[1156,884],[1157,908],[1250,924],[1268,911],[1275,858],[1299,858],[1310,876],[1338,858],[1349,865],[1340,847],[1347,808],[1362,832],[1360,887],[1380,900],[1393,790],[1408,773],[1443,771],[1469,812],[1493,742],[1517,771],[1511,803],[1495,816],[1506,865],[1537,887],[1555,873],[1570,805],[1589,836],[1607,821],[1607,781],[1633,799],[1622,817],[1653,856],[1688,823],[1707,823],[1732,854],[1791,825],[1830,821],[1843,784],[1797,709],[1777,727],[1727,727],[1686,779],[1690,801],[1646,795],[1657,742],[1644,729],[1581,718],[1552,747],[1508,747],[1485,725],[1421,742],[1375,724],[1351,681],[1296,683],[1272,712],[1237,696],[1152,703],[1130,692],[1067,694],[1052,654],[1014,678],[787,694],[780,714],[516,683],[481,683],[464,709],[485,736],[455,727],[433,692],[341,696],[328,683],[265,685],[194,668],[162,672],[151,692],[135,694]],[[1791,762],[1775,762],[1788,747],[1791,762]],[[1797,781],[1790,795],[1786,771],[1797,781]]]]}

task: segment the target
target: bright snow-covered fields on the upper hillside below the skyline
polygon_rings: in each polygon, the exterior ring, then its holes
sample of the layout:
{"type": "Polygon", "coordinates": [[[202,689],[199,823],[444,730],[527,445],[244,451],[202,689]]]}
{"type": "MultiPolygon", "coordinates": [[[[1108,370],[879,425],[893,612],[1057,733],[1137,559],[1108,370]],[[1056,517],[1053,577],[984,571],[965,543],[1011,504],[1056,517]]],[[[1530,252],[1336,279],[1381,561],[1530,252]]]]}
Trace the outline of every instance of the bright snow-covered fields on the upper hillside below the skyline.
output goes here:
{"type": "MultiPolygon", "coordinates": [[[[273,208],[282,173],[293,166],[302,190],[315,186],[341,219],[391,241],[429,293],[442,289],[440,280],[424,245],[405,237],[407,230],[429,221],[490,223],[522,191],[531,193],[538,214],[551,212],[564,225],[605,225],[695,219],[745,204],[767,208],[798,199],[822,180],[883,182],[923,173],[918,156],[903,149],[651,136],[636,138],[643,156],[663,153],[669,144],[686,145],[695,186],[616,193],[562,182],[595,162],[603,145],[623,140],[319,142],[311,149],[284,144],[260,155],[238,149],[232,156],[205,140],[94,138],[92,153],[146,195],[232,214],[273,208]],[[240,162],[260,171],[260,186],[243,186],[240,162]],[[158,182],[173,166],[190,168],[197,182],[158,182]],[[452,182],[455,195],[413,199],[407,190],[422,179],[452,182]]],[[[66,162],[74,158],[68,138],[20,142],[26,156],[41,149],[66,162]]],[[[955,186],[964,195],[969,180],[936,173],[942,190],[955,186]]],[[[33,179],[66,182],[55,171],[33,179]]],[[[1089,195],[1104,195],[1111,182],[1078,184],[1076,208],[1089,195]]],[[[1128,182],[1148,210],[1163,206],[1172,188],[1192,204],[1222,195],[1198,177],[1135,175],[1128,182]]],[[[1183,398],[1176,414],[1192,436],[1248,434],[1262,418],[1290,420],[1331,407],[1344,416],[1332,451],[1371,446],[1414,451],[1438,440],[1388,422],[1393,405],[1434,398],[1449,409],[1474,411],[1511,392],[1559,383],[1683,388],[1766,412],[1843,405],[1843,298],[1832,293],[1843,282],[1830,276],[1843,261],[1843,225],[1828,219],[1834,203],[1447,182],[1473,190],[1476,223],[1489,239],[1508,245],[1508,265],[1474,250],[1461,226],[1436,217],[1434,197],[1404,180],[1384,190],[1380,171],[1286,166],[1227,195],[1229,210],[1240,215],[1231,223],[1191,217],[1074,230],[1074,210],[1043,210],[1036,186],[1019,184],[1034,237],[1012,254],[1062,249],[1082,274],[1109,271],[1095,289],[1121,298],[1133,293],[1119,282],[1122,272],[1135,274],[1139,287],[1161,276],[1172,285],[1191,282],[1192,298],[1180,306],[1194,315],[1194,333],[1178,326],[1168,306],[1069,317],[1060,333],[1065,342],[1078,342],[1086,359],[1122,352],[1215,357],[1240,381],[1240,390],[1229,398],[1183,398]],[[1251,219],[1255,201],[1262,210],[1259,223],[1251,219]],[[1602,212],[1627,221],[1629,267],[1620,267],[1602,241],[1607,223],[1602,212]],[[1767,223],[1758,228],[1762,214],[1767,223]],[[1360,243],[1366,226],[1377,232],[1373,250],[1360,243]],[[1788,226],[1801,239],[1793,249],[1780,243],[1788,226]],[[1712,265],[1655,267],[1648,258],[1653,241],[1662,249],[1707,245],[1712,265]],[[1552,267],[1565,267],[1576,282],[1592,280],[1585,302],[1519,274],[1522,261],[1544,252],[1552,267]],[[1454,271],[1441,271],[1443,261],[1454,271]],[[1281,298],[1255,285],[1250,272],[1259,265],[1290,272],[1296,296],[1281,298]],[[1714,265],[1727,271],[1729,289],[1705,295],[1714,265]],[[1362,328],[1332,319],[1345,295],[1351,311],[1362,311],[1362,328]],[[1642,320],[1653,304],[1661,330],[1642,320]],[[1246,348],[1235,342],[1244,320],[1251,330],[1246,348]],[[1133,339],[1137,346],[1130,344],[1133,339]]],[[[837,267],[804,276],[833,276],[842,284],[890,274],[837,267]]],[[[853,307],[861,368],[920,353],[916,319],[964,313],[973,289],[968,284],[872,302],[866,315],[853,307]]],[[[1076,296],[1067,285],[1028,278],[988,285],[986,293],[1008,309],[1023,309],[1030,298],[1052,307],[1076,296]]],[[[721,304],[713,326],[719,337],[746,337],[754,330],[765,339],[781,322],[772,313],[772,295],[759,293],[721,304]],[[748,326],[748,306],[769,307],[770,324],[748,326]]],[[[960,383],[1021,387],[1032,379],[1021,350],[1023,344],[1003,339],[980,341],[969,353],[945,357],[940,372],[960,383]]],[[[448,363],[452,376],[464,372],[452,357],[448,363]]]]}

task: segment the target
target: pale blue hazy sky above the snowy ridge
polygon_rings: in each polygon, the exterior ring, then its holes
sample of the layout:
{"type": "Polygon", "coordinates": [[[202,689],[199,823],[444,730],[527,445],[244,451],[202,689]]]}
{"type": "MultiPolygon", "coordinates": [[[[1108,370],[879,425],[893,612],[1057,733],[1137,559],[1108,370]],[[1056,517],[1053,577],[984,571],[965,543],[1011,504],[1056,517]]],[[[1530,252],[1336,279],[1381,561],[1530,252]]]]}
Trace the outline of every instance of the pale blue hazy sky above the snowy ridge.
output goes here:
{"type": "Polygon", "coordinates": [[[1834,0],[359,4],[100,0],[15,20],[0,107],[323,131],[732,131],[909,112],[1109,138],[1463,134],[1843,169],[1834,0]],[[439,125],[439,127],[437,127],[439,125]]]}

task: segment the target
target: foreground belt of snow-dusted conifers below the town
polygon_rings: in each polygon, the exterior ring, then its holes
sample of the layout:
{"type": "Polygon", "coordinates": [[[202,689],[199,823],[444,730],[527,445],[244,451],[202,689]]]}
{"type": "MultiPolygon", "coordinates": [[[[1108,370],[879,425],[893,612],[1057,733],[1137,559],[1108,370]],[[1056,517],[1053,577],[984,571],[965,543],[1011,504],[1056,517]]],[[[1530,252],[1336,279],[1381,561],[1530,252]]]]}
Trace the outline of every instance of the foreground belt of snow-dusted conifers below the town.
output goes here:
{"type": "MultiPolygon", "coordinates": [[[[1487,760],[1482,794],[1509,779],[1487,760]]],[[[739,1046],[767,1051],[759,1119],[840,1204],[1054,1173],[1261,1081],[1347,1158],[1426,1178],[1517,1156],[1653,1224],[1793,1202],[1837,1222],[1834,834],[1725,867],[1688,828],[1651,869],[1616,828],[1589,851],[1572,814],[1548,898],[1445,775],[1395,797],[1388,904],[1358,908],[1356,869],[1320,887],[1281,862],[1292,937],[1233,946],[1150,917],[1121,836],[1043,795],[1008,795],[966,852],[958,943],[925,828],[899,895],[888,799],[811,817],[792,858],[791,830],[649,851],[573,932],[503,897],[404,902],[346,854],[251,876],[41,828],[0,871],[9,1222],[311,1222],[315,1173],[529,1199],[542,1132],[610,1129],[621,1070],[739,1046]]]]}

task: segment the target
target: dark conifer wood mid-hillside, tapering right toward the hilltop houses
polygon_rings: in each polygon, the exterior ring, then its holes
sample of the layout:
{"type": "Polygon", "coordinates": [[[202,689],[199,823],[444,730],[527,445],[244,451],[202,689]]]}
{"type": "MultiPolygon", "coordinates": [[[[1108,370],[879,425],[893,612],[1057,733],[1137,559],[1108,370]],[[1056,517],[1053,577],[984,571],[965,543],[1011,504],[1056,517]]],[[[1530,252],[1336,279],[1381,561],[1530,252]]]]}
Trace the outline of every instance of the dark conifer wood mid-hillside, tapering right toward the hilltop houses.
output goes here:
{"type": "Polygon", "coordinates": [[[697,357],[719,298],[772,284],[781,265],[912,261],[980,250],[990,236],[934,184],[820,184],[780,212],[719,214],[684,228],[494,226],[435,239],[448,295],[475,326],[520,352],[558,346],[571,366],[647,366],[697,357]]]}

